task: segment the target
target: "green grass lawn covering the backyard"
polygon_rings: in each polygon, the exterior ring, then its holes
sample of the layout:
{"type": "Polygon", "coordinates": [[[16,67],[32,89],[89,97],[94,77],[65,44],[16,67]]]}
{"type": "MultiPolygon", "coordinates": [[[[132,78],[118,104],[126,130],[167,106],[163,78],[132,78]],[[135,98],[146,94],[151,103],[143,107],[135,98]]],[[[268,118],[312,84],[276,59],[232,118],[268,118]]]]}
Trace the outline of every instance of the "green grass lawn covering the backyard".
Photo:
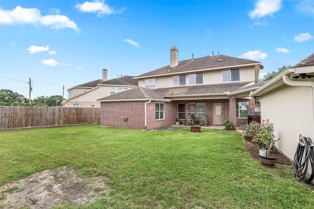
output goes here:
{"type": "Polygon", "coordinates": [[[63,165],[108,178],[109,194],[78,208],[314,208],[313,191],[294,179],[292,165],[262,166],[236,131],[86,125],[0,132],[0,186],[63,165]]]}

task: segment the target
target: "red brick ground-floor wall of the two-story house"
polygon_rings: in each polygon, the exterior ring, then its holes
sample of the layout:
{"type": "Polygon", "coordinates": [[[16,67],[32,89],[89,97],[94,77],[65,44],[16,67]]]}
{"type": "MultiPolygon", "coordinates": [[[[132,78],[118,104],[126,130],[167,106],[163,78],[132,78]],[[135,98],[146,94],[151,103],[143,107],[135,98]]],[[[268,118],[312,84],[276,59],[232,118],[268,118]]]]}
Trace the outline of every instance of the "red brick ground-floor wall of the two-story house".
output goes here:
{"type": "MultiPolygon", "coordinates": [[[[133,129],[153,129],[175,124],[177,118],[177,103],[205,102],[205,114],[209,116],[209,125],[213,124],[213,104],[222,103],[223,121],[230,119],[236,127],[247,123],[247,118],[236,118],[236,102],[249,101],[249,114],[254,113],[255,99],[211,99],[211,100],[181,100],[165,102],[165,119],[155,119],[156,102],[146,105],[147,120],[145,126],[145,101],[132,102],[101,102],[101,126],[133,129]],[[124,121],[123,117],[128,120],[124,121]]],[[[157,102],[158,103],[158,102],[157,102]]],[[[163,102],[162,102],[163,103],[163,102]]],[[[196,116],[196,113],[195,113],[196,116]]]]}

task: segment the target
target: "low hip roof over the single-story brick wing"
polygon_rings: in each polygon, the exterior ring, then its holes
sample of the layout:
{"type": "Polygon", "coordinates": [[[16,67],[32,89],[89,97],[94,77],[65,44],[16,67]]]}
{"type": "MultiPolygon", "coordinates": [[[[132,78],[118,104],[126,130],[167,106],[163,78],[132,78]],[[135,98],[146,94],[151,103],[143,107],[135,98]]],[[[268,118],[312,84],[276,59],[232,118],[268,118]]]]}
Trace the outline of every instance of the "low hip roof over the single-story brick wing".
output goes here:
{"type": "Polygon", "coordinates": [[[148,89],[144,87],[136,87],[128,91],[116,93],[104,98],[98,99],[97,101],[141,101],[141,100],[154,100],[154,101],[168,101],[157,94],[154,89],[148,89]]]}

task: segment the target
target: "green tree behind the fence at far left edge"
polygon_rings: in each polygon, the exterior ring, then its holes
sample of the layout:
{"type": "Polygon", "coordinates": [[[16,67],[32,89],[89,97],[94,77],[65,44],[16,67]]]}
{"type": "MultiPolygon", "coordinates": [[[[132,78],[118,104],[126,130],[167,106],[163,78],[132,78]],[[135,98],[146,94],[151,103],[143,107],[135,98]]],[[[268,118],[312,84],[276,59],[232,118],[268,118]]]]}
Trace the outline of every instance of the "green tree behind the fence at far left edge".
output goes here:
{"type": "Polygon", "coordinates": [[[26,106],[29,100],[22,94],[8,89],[0,90],[0,106],[26,106]]]}

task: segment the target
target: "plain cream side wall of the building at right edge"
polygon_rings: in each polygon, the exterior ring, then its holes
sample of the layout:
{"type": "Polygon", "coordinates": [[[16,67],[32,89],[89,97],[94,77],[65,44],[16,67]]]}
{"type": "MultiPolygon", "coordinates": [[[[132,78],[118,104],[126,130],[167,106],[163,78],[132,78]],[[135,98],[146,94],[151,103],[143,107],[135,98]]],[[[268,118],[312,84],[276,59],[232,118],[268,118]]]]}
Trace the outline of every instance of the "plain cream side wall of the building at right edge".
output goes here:
{"type": "Polygon", "coordinates": [[[262,95],[261,116],[274,123],[276,147],[291,160],[299,134],[314,139],[313,90],[310,87],[287,87],[262,95]]]}

